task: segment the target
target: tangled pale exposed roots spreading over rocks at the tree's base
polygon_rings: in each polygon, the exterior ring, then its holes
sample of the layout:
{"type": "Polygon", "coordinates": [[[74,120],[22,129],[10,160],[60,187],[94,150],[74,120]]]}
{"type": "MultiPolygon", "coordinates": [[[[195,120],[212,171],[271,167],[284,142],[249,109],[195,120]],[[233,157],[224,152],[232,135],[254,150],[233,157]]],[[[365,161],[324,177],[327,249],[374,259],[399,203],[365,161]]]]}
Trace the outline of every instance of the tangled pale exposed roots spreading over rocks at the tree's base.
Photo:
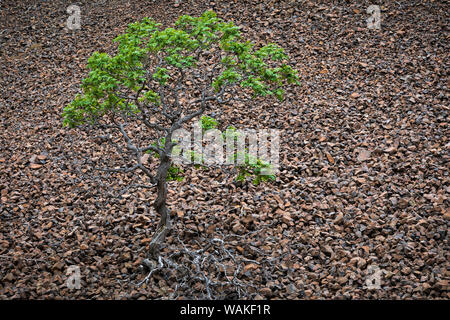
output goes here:
{"type": "Polygon", "coordinates": [[[163,278],[174,285],[170,289],[170,299],[179,296],[210,300],[253,299],[259,288],[252,283],[253,277],[244,270],[245,266],[258,266],[262,277],[270,280],[281,258],[270,259],[269,253],[262,251],[258,252],[256,260],[239,255],[233,249],[235,245],[229,242],[245,240],[245,237],[229,235],[204,239],[206,244],[202,246],[197,243],[197,247],[200,247],[197,250],[188,248],[176,237],[176,241],[159,252],[157,258],[143,261],[148,273],[137,285],[148,284],[152,277],[154,280],[163,278]]]}

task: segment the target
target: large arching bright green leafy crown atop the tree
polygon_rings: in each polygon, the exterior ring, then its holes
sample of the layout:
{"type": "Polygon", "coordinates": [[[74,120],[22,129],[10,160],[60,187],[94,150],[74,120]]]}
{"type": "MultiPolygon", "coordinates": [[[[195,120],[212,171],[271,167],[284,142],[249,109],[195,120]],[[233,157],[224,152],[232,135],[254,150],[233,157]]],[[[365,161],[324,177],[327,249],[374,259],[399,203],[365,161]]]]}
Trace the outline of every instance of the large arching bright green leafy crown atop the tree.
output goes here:
{"type": "Polygon", "coordinates": [[[287,64],[282,48],[268,44],[255,49],[253,43],[242,40],[237,26],[212,11],[200,17],[183,15],[174,28],[160,27],[150,18],[132,23],[114,39],[118,43],[116,55],[95,52],[89,58],[90,72],[82,82],[83,92],[64,108],[64,125],[94,123],[109,112],[140,112],[120,93],[139,93],[139,103],[158,107],[158,88],[146,85],[147,73],[151,72],[151,79],[159,85],[167,85],[176,80],[174,71],[198,68],[199,51],[222,52],[222,72],[212,83],[216,91],[234,84],[251,88],[255,96],[282,99],[285,84],[299,84],[297,71],[287,64]],[[157,63],[161,58],[162,63],[157,63]],[[273,67],[274,62],[279,66],[273,67]]]}

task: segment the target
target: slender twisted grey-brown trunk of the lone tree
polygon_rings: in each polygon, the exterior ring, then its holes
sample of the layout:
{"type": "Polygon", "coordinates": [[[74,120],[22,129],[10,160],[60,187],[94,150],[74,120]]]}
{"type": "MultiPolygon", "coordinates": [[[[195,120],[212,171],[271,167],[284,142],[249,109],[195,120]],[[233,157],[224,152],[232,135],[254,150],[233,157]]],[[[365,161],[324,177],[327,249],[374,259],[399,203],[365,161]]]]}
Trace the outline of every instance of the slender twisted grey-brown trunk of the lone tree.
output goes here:
{"type": "Polygon", "coordinates": [[[152,241],[150,242],[150,256],[156,258],[159,254],[161,244],[165,241],[167,233],[170,231],[170,211],[166,205],[167,199],[167,172],[171,165],[171,159],[163,154],[161,163],[156,174],[157,197],[153,207],[160,216],[159,225],[156,228],[152,241]]]}

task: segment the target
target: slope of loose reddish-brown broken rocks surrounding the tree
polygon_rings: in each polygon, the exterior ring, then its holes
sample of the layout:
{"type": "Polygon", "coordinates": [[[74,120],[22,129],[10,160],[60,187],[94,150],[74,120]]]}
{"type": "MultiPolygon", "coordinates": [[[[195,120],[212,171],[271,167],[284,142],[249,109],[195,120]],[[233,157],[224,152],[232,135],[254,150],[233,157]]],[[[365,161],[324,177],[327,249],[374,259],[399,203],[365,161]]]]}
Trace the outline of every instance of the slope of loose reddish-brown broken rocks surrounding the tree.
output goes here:
{"type": "Polygon", "coordinates": [[[234,274],[241,289],[216,298],[449,298],[448,4],[383,1],[371,30],[368,1],[77,1],[74,31],[70,4],[0,4],[0,298],[207,297],[202,281],[177,287],[164,270],[138,285],[154,194],[127,189],[141,177],[94,171],[89,159],[105,154],[61,119],[87,58],[113,52],[128,23],[206,9],[285,47],[302,86],[283,103],[215,110],[224,126],[281,130],[281,172],[255,187],[187,169],[170,182],[166,250],[223,239],[205,254],[236,261],[208,275],[234,274]],[[72,265],[78,290],[66,286],[72,265]],[[374,266],[378,289],[367,288],[374,266]]]}

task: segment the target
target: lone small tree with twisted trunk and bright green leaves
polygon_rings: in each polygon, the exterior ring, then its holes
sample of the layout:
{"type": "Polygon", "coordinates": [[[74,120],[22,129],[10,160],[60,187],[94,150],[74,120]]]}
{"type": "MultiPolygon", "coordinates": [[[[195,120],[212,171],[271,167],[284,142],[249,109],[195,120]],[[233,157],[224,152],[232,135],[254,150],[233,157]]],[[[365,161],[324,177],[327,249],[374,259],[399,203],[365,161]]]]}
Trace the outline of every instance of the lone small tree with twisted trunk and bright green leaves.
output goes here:
{"type": "Polygon", "coordinates": [[[150,243],[150,253],[156,255],[170,229],[166,180],[177,144],[174,131],[213,104],[231,103],[238,93],[282,100],[283,87],[298,84],[298,75],[282,48],[275,44],[257,48],[242,39],[237,26],[212,11],[200,17],[183,15],[175,27],[165,29],[145,18],[130,24],[114,41],[118,43],[114,56],[95,52],[89,58],[82,94],[64,108],[64,125],[103,130],[107,134],[100,140],[111,142],[118,151],[122,149],[110,133],[122,136],[135,163],[105,170],[140,170],[150,187],[156,187],[153,207],[160,222],[150,243]],[[146,144],[134,141],[131,124],[148,130],[146,144]],[[152,170],[149,163],[155,159],[159,165],[152,170]]]}

